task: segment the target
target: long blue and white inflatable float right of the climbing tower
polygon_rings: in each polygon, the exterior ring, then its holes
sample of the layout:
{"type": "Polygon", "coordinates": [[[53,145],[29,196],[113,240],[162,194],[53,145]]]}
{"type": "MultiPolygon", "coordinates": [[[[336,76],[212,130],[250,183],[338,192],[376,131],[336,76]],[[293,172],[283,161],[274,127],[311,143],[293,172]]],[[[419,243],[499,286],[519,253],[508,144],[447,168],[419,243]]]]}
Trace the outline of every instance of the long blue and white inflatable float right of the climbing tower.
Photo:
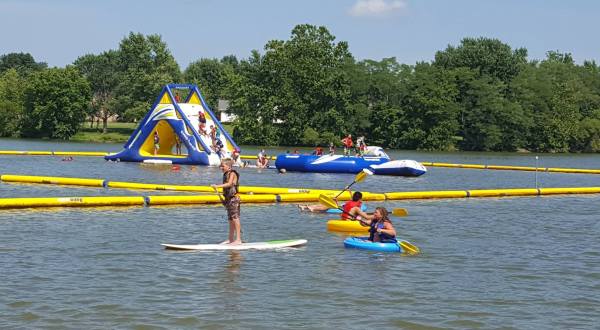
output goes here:
{"type": "Polygon", "coordinates": [[[368,147],[363,157],[343,155],[281,154],[275,160],[277,169],[295,172],[358,173],[369,169],[378,175],[420,176],[425,166],[414,160],[391,160],[381,147],[368,147]]]}

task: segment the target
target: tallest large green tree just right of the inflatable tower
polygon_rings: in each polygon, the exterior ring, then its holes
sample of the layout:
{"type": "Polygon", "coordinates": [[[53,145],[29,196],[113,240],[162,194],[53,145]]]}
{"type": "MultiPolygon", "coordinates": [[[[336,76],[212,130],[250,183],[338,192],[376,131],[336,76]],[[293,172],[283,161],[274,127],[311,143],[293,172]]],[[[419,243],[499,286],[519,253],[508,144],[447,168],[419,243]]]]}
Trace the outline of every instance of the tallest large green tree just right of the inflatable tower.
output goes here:
{"type": "Polygon", "coordinates": [[[348,132],[350,82],[343,67],[352,56],[325,27],[298,25],[290,40],[272,40],[265,54],[254,52],[240,65],[243,85],[230,89],[236,128],[242,138],[257,131],[241,123],[260,122],[262,140],[297,144],[311,127],[338,136],[348,132]]]}

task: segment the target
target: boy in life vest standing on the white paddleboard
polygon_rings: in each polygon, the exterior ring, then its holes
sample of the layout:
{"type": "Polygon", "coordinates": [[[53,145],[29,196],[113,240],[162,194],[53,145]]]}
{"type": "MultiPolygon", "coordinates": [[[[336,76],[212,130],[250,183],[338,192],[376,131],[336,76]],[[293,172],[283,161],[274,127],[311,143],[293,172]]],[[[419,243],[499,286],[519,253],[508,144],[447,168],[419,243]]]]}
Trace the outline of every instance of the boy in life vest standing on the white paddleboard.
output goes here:
{"type": "Polygon", "coordinates": [[[223,205],[227,209],[227,220],[229,221],[229,237],[221,244],[242,244],[242,225],[240,222],[240,174],[232,169],[233,160],[224,158],[221,160],[221,171],[223,171],[223,184],[212,184],[213,189],[223,188],[223,205]]]}

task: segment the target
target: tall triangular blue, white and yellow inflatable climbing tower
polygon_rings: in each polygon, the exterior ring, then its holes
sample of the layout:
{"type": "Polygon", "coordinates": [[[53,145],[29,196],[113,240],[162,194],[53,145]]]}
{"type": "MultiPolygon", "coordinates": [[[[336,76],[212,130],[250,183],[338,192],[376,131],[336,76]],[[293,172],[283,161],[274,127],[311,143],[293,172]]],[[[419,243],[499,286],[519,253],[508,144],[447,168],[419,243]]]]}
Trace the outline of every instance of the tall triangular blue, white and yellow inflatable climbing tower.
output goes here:
{"type": "Polygon", "coordinates": [[[104,158],[125,162],[219,165],[221,157],[231,156],[236,148],[239,150],[204,101],[198,86],[169,84],[163,87],[124,149],[104,158]],[[184,95],[183,102],[177,102],[175,91],[184,95]]]}

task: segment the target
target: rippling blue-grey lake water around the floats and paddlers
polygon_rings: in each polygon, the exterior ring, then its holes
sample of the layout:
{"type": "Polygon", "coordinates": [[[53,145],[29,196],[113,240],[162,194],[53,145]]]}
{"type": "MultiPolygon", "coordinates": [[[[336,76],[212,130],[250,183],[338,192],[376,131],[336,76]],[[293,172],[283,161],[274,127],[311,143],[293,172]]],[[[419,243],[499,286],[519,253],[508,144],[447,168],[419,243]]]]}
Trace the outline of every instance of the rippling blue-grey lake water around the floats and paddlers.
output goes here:
{"type": "MultiPolygon", "coordinates": [[[[118,151],[120,144],[0,139],[0,150],[118,151]]],[[[271,149],[275,154],[275,149],[271,149]]],[[[256,149],[244,148],[245,154],[256,149]]],[[[535,166],[532,154],[391,152],[396,159],[535,166]]],[[[540,155],[540,167],[600,168],[599,155],[540,155]]],[[[150,183],[218,182],[217,168],[0,156],[0,174],[150,183]]],[[[339,189],[353,175],[241,170],[243,185],[339,189]]],[[[539,173],[541,187],[600,186],[600,175],[539,173]]],[[[371,176],[364,191],[524,188],[535,173],[429,168],[371,176]]],[[[0,183],[0,197],[156,195],[0,183]]],[[[293,204],[242,205],[244,239],[306,238],[280,251],[165,251],[227,234],[219,206],[0,210],[0,327],[56,329],[575,329],[600,324],[600,196],[369,203],[422,254],[346,250],[331,217],[293,204]]]]}

